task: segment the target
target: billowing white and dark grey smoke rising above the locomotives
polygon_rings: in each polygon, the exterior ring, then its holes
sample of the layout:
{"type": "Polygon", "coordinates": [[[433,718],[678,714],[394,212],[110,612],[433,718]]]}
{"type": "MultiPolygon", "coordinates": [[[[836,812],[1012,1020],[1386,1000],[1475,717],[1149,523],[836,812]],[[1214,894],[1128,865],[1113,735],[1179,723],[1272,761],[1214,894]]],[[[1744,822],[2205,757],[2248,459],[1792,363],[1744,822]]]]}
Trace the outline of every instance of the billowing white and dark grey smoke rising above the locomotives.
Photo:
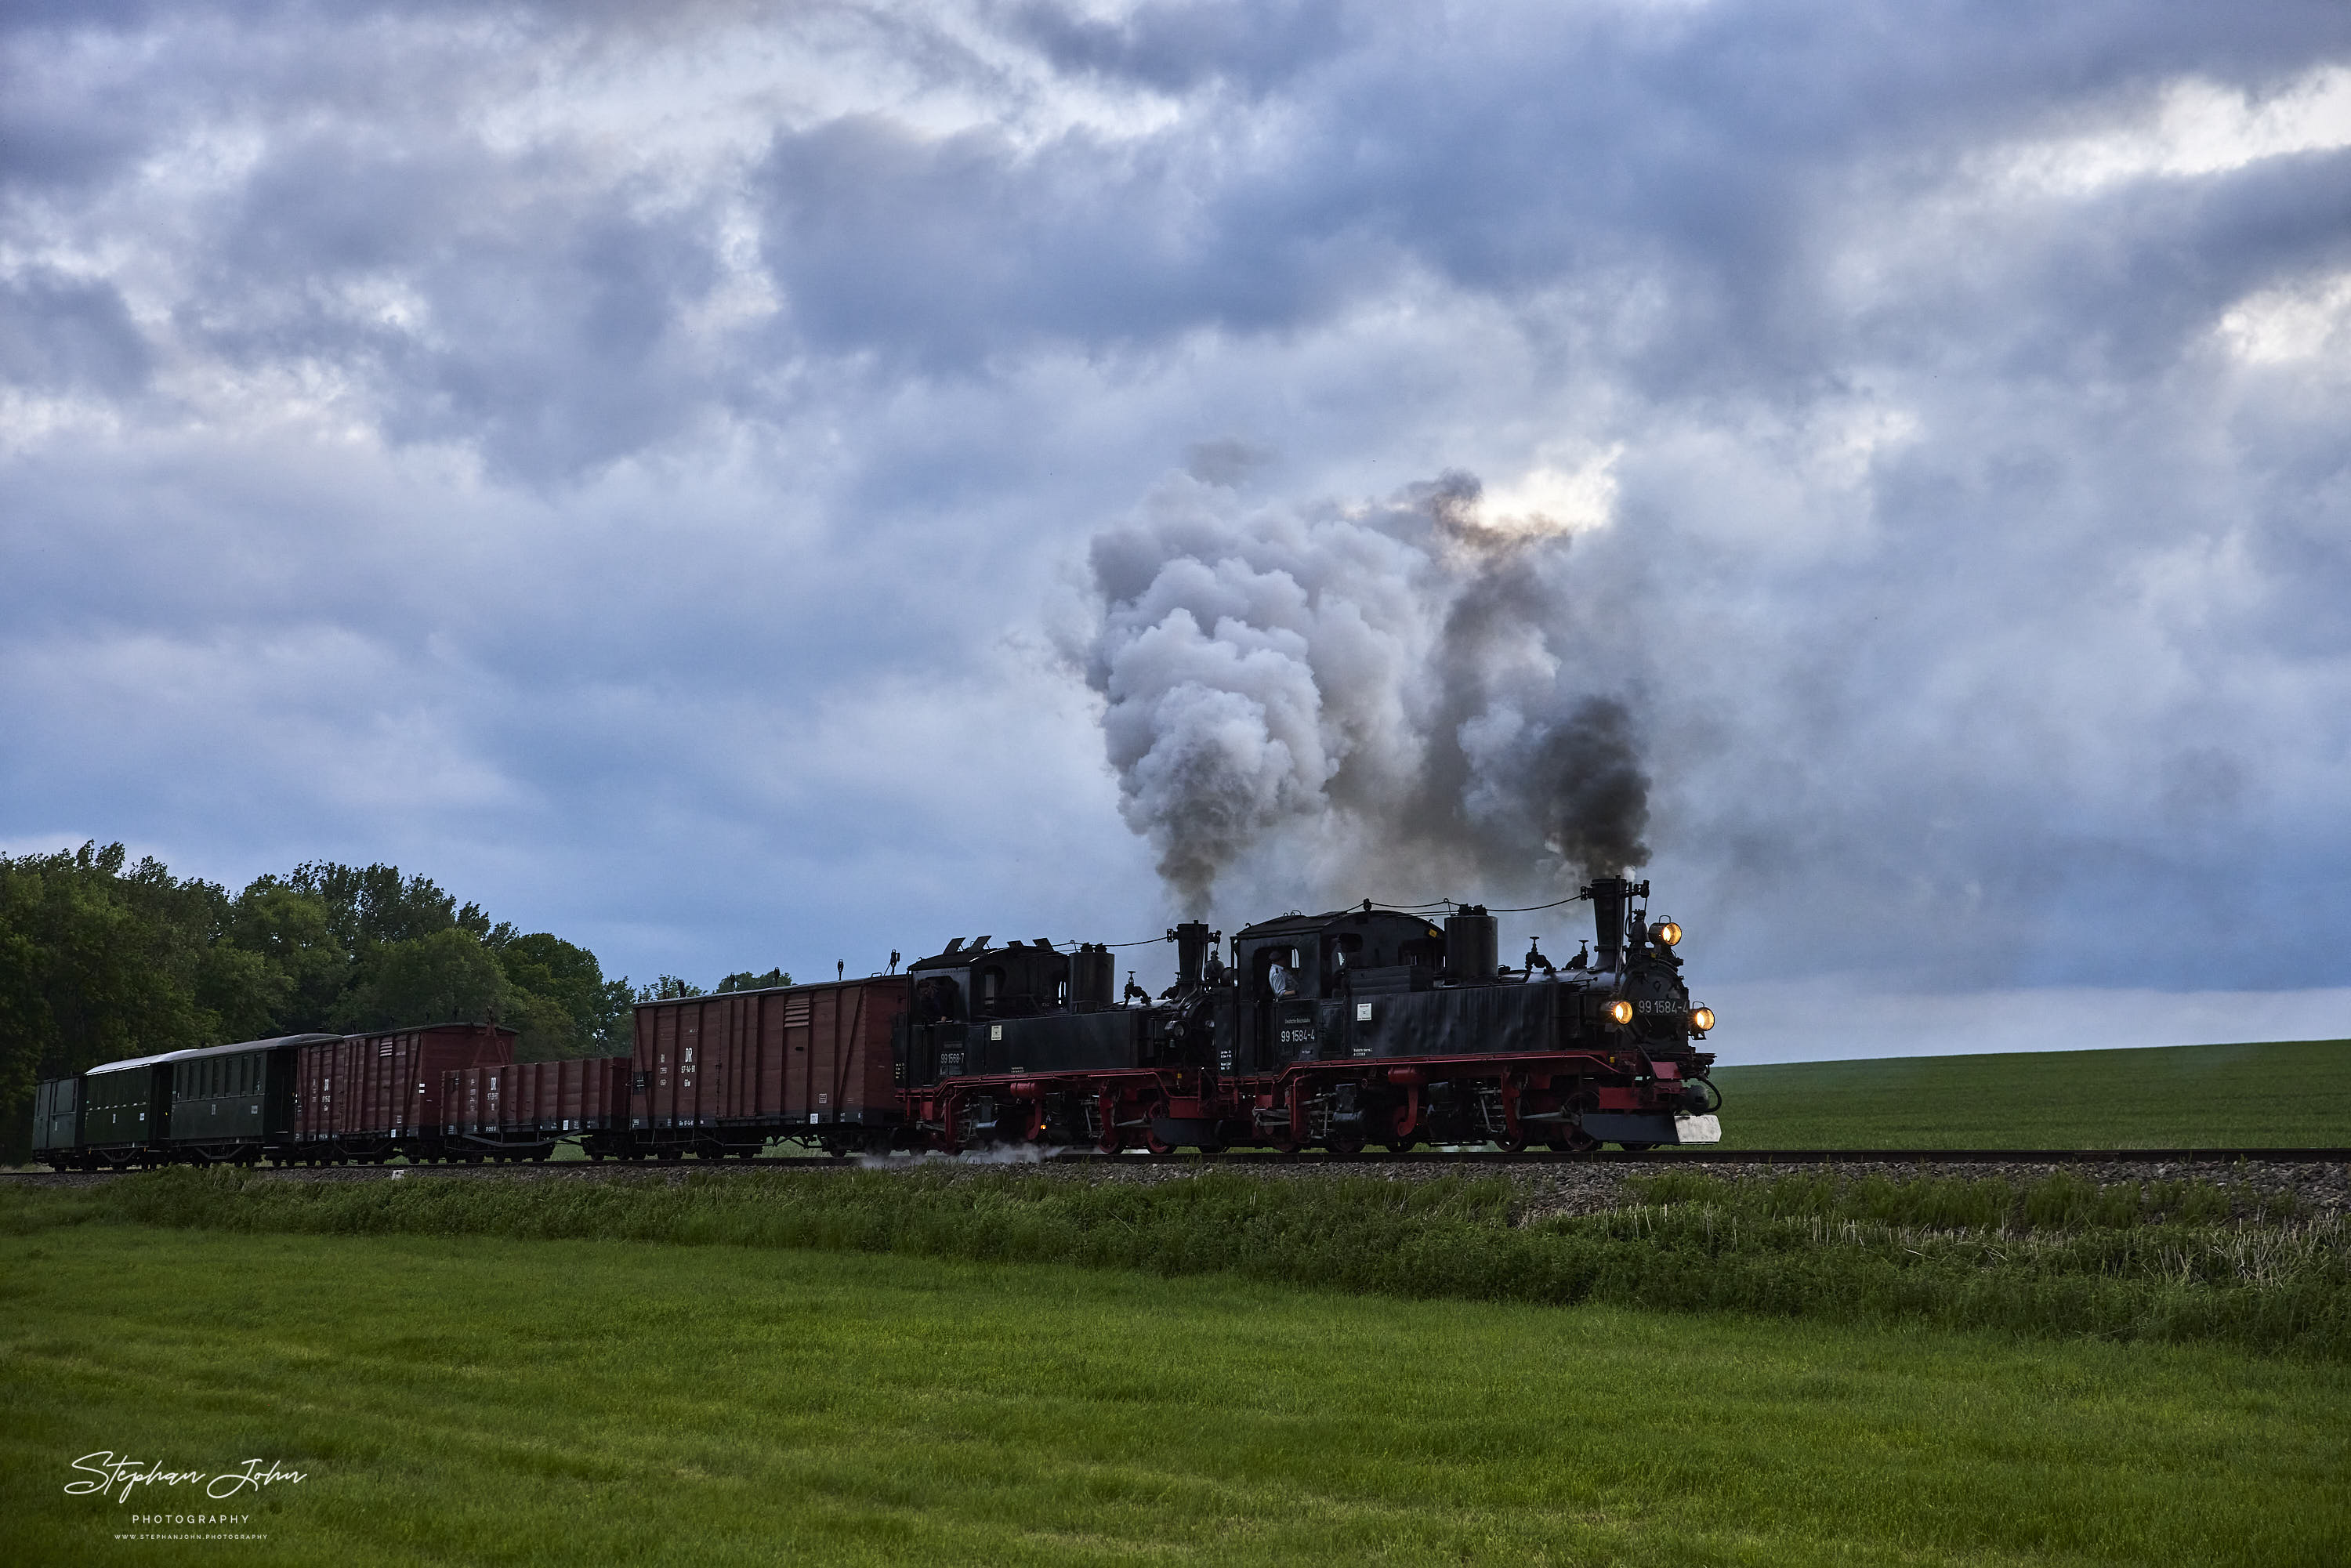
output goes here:
{"type": "Polygon", "coordinates": [[[1178,903],[1239,867],[1352,900],[1641,865],[1636,722],[1580,668],[1568,543],[1486,522],[1465,473],[1312,515],[1176,480],[1100,534],[1086,677],[1178,903]]]}

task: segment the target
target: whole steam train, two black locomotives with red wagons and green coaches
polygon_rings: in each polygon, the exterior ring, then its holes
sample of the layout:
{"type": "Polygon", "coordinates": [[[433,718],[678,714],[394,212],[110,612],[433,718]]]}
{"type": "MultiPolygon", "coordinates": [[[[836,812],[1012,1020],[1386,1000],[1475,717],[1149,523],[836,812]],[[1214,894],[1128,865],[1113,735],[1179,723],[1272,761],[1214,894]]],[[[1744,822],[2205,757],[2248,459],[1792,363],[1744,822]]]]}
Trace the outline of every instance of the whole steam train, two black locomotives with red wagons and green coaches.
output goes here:
{"type": "MultiPolygon", "coordinates": [[[[1681,929],[1601,877],[1566,964],[1498,959],[1495,917],[1364,903],[1232,943],[1168,931],[1176,983],[1112,950],[952,940],[905,973],[644,1001],[630,1056],[515,1063],[513,1030],[287,1034],[106,1063],[40,1084],[59,1168],[750,1159],[992,1145],[1100,1152],[1418,1145],[1580,1152],[1716,1143],[1681,929]]],[[[893,966],[896,969],[896,966],[893,966]]]]}

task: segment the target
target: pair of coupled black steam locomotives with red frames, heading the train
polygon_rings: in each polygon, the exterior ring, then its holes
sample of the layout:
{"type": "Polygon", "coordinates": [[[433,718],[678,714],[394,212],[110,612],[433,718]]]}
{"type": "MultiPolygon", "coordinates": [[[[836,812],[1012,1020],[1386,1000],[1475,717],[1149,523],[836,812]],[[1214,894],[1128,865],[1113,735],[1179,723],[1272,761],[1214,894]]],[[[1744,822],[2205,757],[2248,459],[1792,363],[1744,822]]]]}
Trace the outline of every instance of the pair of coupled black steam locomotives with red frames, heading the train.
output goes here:
{"type": "Polygon", "coordinates": [[[1051,1143],[1154,1154],[1420,1143],[1505,1150],[1712,1143],[1714,1027],[1690,1004],[1681,929],[1648,884],[1585,889],[1596,943],[1563,966],[1498,964],[1495,917],[1444,926],[1364,905],[1232,938],[1176,926],[1176,985],[1114,1006],[1100,947],[978,943],[910,969],[905,1119],[940,1147],[1051,1143]]]}

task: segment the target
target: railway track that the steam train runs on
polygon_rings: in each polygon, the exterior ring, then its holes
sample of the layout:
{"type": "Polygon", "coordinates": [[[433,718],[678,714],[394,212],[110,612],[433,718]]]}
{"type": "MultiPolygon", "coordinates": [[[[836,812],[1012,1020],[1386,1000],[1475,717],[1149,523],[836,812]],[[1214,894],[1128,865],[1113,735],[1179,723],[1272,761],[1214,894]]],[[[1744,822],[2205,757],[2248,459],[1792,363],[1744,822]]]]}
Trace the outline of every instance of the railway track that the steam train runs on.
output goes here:
{"type": "MultiPolygon", "coordinates": [[[[259,1166],[263,1175],[292,1175],[306,1180],[367,1180],[367,1178],[390,1178],[390,1175],[510,1175],[517,1171],[531,1171],[543,1175],[611,1175],[616,1171],[839,1171],[839,1168],[882,1168],[882,1171],[917,1171],[924,1166],[950,1166],[950,1168],[1023,1168],[1023,1166],[1328,1166],[1328,1168],[1394,1168],[1394,1166],[1676,1166],[1676,1164],[1704,1164],[1704,1166],[2233,1166],[2233,1164],[2290,1164],[2290,1166],[2335,1166],[2351,1164],[2351,1147],[2325,1147],[2325,1150],[1646,1150],[1639,1154],[1627,1154],[1622,1150],[1592,1152],[1592,1154],[1554,1154],[1554,1152],[1526,1152],[1505,1154],[1498,1150],[1469,1150],[1460,1154],[1267,1154],[1267,1152],[1225,1152],[1225,1154],[1173,1154],[1164,1159],[1152,1159],[1145,1154],[1096,1154],[1091,1150],[1063,1150],[1044,1154],[1039,1159],[1006,1159],[1002,1154],[903,1154],[889,1159],[868,1161],[830,1161],[816,1157],[759,1157],[759,1159],[686,1159],[686,1161],[590,1161],[590,1159],[545,1159],[545,1161],[510,1161],[510,1164],[449,1164],[449,1166],[259,1166]]],[[[0,1171],[0,1180],[54,1180],[56,1171],[0,1171]]],[[[125,1171],[73,1171],[66,1175],[92,1178],[92,1175],[127,1175],[125,1171]]]]}

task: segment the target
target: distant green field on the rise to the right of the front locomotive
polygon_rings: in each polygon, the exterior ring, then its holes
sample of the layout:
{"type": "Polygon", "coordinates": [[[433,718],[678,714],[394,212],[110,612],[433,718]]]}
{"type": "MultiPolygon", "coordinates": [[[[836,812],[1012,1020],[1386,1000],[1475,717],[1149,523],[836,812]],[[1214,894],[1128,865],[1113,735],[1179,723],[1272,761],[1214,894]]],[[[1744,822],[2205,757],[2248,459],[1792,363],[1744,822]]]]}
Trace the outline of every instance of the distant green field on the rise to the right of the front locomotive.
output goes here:
{"type": "Polygon", "coordinates": [[[2351,1041],[1716,1067],[1726,1150],[2351,1147],[2351,1041]]]}

